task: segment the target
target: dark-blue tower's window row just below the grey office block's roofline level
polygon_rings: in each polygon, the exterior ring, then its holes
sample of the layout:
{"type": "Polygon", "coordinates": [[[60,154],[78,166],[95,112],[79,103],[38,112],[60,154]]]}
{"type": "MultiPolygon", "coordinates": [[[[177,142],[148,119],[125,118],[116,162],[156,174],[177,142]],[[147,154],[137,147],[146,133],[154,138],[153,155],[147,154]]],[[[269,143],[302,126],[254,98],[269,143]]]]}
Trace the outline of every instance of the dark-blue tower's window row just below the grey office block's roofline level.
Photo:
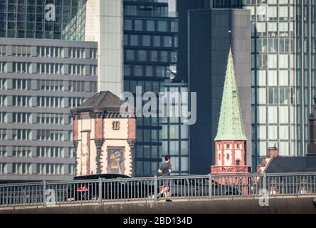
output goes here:
{"type": "Polygon", "coordinates": [[[125,61],[177,63],[178,53],[176,51],[126,50],[125,61]]]}

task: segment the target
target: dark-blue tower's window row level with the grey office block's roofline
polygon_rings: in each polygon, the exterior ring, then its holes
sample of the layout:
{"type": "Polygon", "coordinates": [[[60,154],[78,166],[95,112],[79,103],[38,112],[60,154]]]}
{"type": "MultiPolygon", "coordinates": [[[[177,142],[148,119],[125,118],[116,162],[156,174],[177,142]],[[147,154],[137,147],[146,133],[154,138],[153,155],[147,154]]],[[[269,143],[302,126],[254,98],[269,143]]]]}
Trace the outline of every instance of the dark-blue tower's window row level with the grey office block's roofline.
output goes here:
{"type": "Polygon", "coordinates": [[[124,35],[125,46],[177,48],[177,36],[124,35]]]}

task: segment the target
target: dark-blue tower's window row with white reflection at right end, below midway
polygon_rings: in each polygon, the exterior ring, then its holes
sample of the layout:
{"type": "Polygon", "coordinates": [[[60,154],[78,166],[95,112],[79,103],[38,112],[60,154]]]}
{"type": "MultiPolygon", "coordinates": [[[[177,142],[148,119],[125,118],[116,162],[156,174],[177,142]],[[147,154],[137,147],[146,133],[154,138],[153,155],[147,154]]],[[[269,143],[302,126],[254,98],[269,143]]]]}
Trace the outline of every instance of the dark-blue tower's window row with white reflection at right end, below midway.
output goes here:
{"type": "Polygon", "coordinates": [[[170,78],[173,66],[125,65],[124,76],[170,78]]]}

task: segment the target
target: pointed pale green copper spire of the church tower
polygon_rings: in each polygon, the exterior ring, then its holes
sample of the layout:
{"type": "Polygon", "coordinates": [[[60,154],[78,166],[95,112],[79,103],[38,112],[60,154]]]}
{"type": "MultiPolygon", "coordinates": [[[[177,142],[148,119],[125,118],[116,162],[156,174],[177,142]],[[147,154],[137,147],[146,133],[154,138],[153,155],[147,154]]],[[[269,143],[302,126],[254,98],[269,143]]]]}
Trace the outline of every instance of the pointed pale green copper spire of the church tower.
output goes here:
{"type": "Polygon", "coordinates": [[[233,52],[229,49],[221,114],[215,141],[247,140],[243,129],[243,117],[236,86],[235,70],[233,66],[233,52]]]}

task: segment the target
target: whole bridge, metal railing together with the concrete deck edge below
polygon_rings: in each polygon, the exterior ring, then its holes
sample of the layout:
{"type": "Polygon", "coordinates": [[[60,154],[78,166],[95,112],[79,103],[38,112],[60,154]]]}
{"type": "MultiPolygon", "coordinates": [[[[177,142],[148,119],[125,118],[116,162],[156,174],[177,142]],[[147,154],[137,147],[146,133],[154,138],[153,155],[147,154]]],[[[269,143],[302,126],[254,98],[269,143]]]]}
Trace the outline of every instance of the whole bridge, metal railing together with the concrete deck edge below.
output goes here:
{"type": "Polygon", "coordinates": [[[0,214],[316,213],[315,198],[316,172],[155,176],[0,185],[0,214]]]}

